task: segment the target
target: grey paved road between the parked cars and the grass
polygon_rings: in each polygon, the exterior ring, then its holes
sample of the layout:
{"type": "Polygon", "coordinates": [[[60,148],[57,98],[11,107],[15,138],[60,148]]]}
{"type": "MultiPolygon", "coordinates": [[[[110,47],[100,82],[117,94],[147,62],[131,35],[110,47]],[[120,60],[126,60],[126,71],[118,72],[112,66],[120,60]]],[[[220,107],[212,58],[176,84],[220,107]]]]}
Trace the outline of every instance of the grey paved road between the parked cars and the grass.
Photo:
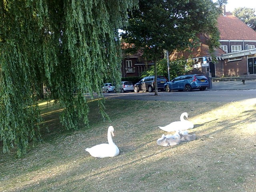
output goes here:
{"type": "Polygon", "coordinates": [[[256,80],[248,80],[245,85],[241,81],[212,82],[212,89],[206,91],[194,90],[192,92],[128,92],[108,93],[106,98],[135,99],[135,100],[164,100],[189,102],[236,102],[256,98],[256,80]]]}

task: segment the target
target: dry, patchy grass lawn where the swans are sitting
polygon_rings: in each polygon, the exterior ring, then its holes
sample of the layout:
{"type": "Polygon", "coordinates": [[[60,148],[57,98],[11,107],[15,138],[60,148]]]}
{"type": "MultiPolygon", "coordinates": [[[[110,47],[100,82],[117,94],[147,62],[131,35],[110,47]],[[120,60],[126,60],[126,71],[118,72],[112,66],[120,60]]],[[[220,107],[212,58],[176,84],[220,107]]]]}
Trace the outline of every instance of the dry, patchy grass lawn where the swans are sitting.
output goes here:
{"type": "Polygon", "coordinates": [[[0,191],[24,192],[255,192],[256,99],[232,103],[106,99],[112,122],[103,121],[97,101],[90,128],[66,131],[58,104],[41,104],[43,141],[28,154],[0,152],[0,191]],[[196,140],[162,147],[158,126],[188,112],[196,140]],[[85,148],[107,142],[108,126],[120,154],[94,158],[85,148]],[[47,130],[47,128],[48,130],[47,130]]]}

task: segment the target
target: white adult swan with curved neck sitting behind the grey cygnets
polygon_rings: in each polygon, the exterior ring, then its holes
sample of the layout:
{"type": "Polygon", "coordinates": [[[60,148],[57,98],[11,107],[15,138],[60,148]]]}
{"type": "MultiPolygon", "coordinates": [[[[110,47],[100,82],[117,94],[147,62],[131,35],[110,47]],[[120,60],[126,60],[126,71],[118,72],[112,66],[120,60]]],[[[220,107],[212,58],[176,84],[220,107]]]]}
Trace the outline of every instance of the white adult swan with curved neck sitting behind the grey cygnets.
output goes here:
{"type": "Polygon", "coordinates": [[[180,121],[174,121],[164,127],[160,127],[160,126],[158,127],[167,132],[178,131],[178,130],[188,130],[188,129],[194,128],[194,124],[189,120],[185,120],[184,117],[188,119],[187,112],[184,112],[181,114],[180,121]]]}

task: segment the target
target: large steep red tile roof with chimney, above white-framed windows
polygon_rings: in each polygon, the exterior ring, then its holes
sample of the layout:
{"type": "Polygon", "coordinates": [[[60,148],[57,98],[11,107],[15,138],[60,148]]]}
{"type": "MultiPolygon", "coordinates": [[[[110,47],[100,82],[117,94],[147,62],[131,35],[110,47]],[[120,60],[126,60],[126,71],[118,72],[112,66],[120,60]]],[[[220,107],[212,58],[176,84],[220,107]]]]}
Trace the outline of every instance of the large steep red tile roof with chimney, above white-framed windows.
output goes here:
{"type": "Polygon", "coordinates": [[[220,40],[256,40],[256,32],[230,12],[218,17],[218,29],[220,40]]]}

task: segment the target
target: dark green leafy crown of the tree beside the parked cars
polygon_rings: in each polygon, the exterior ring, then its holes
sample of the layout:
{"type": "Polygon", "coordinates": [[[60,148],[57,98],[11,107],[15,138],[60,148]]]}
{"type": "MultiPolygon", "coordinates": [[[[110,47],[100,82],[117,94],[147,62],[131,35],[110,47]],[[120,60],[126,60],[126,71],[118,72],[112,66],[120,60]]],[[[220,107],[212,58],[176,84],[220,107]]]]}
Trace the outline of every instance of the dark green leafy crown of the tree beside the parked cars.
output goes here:
{"type": "Polygon", "coordinates": [[[163,50],[193,46],[191,39],[196,40],[198,32],[209,36],[213,52],[214,46],[219,45],[217,18],[225,3],[226,0],[140,0],[139,9],[129,13],[129,25],[122,28],[122,39],[154,60],[156,76],[156,61],[163,50]]]}

